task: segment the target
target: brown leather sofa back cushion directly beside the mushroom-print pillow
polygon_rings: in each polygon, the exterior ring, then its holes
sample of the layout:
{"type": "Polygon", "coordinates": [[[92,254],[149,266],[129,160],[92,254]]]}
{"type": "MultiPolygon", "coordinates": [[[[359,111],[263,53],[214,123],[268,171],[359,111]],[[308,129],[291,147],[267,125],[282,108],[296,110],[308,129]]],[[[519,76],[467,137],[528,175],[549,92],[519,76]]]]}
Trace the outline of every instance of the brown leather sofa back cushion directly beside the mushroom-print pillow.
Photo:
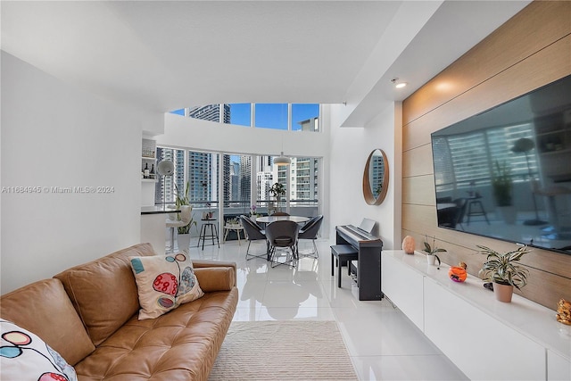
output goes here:
{"type": "Polygon", "coordinates": [[[139,309],[137,284],[128,260],[137,255],[155,255],[153,246],[136,244],[55,276],[62,281],[95,346],[139,309]]]}

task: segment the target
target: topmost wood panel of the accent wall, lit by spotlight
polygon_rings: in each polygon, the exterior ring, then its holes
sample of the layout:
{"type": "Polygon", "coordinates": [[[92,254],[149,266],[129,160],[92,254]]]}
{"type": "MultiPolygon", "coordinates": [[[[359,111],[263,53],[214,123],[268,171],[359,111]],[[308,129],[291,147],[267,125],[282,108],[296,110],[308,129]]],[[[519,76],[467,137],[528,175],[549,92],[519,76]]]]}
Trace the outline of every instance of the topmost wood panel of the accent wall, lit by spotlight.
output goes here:
{"type": "Polygon", "coordinates": [[[440,107],[571,33],[571,3],[535,1],[403,103],[403,124],[440,107]],[[469,73],[469,75],[467,75],[469,73]]]}

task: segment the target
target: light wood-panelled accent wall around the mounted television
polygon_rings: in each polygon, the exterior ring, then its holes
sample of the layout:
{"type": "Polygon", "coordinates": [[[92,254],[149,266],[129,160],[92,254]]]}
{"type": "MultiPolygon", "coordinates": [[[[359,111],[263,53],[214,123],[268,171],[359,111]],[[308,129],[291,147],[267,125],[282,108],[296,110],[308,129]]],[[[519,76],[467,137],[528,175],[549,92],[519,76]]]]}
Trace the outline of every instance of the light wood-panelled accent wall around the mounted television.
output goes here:
{"type": "MultiPolygon", "coordinates": [[[[453,62],[402,104],[402,236],[425,234],[445,248],[442,260],[468,263],[477,276],[484,255],[476,244],[498,251],[514,244],[437,227],[430,134],[497,104],[571,74],[571,2],[535,1],[453,62]]],[[[571,255],[534,249],[525,298],[552,310],[571,301],[571,255]]]]}

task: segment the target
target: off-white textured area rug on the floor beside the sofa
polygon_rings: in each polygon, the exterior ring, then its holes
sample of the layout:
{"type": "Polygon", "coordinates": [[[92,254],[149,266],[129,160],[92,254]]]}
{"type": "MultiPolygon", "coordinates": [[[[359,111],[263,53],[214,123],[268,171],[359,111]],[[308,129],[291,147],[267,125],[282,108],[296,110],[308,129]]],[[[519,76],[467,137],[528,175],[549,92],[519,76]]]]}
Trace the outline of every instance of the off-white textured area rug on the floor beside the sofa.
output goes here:
{"type": "Polygon", "coordinates": [[[356,380],[335,321],[235,321],[215,380],[356,380]]]}

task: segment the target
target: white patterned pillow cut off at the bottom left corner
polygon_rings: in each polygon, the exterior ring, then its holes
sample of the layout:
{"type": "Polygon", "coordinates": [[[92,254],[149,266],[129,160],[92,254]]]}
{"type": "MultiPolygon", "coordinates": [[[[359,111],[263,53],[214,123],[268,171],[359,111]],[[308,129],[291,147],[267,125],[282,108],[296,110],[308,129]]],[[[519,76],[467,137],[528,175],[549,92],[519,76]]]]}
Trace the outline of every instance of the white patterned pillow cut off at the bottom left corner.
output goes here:
{"type": "Polygon", "coordinates": [[[42,339],[4,319],[0,319],[0,369],[3,380],[78,379],[75,369],[42,339]]]}

